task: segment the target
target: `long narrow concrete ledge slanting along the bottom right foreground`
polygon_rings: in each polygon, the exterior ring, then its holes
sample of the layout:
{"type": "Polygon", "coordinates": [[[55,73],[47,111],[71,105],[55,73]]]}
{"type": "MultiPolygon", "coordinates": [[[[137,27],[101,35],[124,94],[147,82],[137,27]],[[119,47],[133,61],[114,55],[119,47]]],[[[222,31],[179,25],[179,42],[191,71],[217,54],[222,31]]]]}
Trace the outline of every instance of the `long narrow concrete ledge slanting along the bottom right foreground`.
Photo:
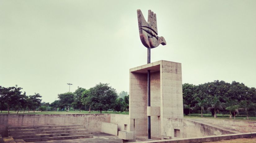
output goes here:
{"type": "Polygon", "coordinates": [[[220,140],[230,140],[237,138],[251,138],[256,137],[256,132],[254,133],[236,133],[228,135],[217,135],[217,136],[206,136],[206,137],[191,137],[183,139],[170,139],[170,140],[157,140],[157,141],[142,141],[136,143],[199,143],[208,141],[220,141],[220,140]]]}

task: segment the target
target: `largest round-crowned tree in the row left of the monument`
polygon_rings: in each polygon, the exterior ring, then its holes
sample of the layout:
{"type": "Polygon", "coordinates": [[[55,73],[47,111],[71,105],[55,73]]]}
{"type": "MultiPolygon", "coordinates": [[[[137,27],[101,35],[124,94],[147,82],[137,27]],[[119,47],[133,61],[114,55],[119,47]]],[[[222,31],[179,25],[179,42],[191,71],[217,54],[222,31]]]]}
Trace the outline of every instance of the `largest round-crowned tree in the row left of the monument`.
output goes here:
{"type": "Polygon", "coordinates": [[[109,84],[99,83],[90,88],[88,100],[93,108],[100,110],[112,109],[117,99],[117,93],[109,84]]]}

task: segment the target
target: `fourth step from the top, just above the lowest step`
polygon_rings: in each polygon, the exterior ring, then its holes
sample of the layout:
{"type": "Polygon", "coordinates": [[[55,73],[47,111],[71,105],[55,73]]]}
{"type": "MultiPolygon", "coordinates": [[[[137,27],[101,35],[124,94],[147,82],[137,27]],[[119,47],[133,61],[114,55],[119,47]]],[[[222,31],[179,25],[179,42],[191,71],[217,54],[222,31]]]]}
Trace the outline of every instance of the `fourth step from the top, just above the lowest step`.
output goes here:
{"type": "Polygon", "coordinates": [[[51,133],[51,134],[36,134],[36,135],[22,135],[22,136],[10,136],[14,139],[25,139],[25,138],[49,138],[49,137],[64,137],[64,136],[80,136],[90,135],[90,132],[81,133],[51,133]]]}

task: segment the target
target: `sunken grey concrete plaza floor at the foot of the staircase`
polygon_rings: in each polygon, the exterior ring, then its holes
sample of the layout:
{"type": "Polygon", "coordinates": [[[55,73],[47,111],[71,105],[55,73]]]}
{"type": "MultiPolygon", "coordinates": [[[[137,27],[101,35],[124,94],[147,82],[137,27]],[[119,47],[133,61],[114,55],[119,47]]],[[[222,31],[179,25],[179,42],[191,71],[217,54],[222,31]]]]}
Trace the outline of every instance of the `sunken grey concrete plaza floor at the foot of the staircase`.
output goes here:
{"type": "MultiPolygon", "coordinates": [[[[106,133],[92,133],[93,138],[80,138],[68,140],[34,141],[29,143],[121,143],[122,139],[106,133]]],[[[153,141],[158,138],[147,139],[146,136],[136,137],[136,141],[153,141]]]]}

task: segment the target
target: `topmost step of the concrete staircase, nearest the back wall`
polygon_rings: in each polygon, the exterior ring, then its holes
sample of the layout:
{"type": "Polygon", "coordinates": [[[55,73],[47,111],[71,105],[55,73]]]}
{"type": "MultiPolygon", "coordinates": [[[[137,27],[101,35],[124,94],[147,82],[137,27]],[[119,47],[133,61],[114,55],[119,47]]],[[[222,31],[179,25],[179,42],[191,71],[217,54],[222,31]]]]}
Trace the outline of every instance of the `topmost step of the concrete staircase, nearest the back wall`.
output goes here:
{"type": "Polygon", "coordinates": [[[46,129],[46,128],[72,128],[72,127],[83,127],[83,125],[49,125],[49,126],[23,126],[23,127],[12,127],[9,126],[9,130],[13,129],[46,129]]]}

